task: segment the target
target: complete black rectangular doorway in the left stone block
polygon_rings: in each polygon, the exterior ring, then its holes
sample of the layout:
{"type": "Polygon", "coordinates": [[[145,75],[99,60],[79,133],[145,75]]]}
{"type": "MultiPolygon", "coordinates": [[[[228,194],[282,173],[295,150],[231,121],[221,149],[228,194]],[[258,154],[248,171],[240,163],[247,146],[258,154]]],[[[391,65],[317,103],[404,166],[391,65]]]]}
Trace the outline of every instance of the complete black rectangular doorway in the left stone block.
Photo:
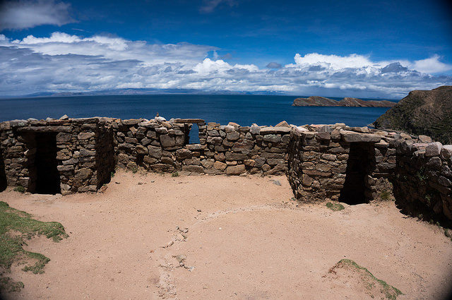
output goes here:
{"type": "Polygon", "coordinates": [[[37,133],[35,140],[35,193],[61,193],[59,172],[57,169],[57,134],[37,133]]]}

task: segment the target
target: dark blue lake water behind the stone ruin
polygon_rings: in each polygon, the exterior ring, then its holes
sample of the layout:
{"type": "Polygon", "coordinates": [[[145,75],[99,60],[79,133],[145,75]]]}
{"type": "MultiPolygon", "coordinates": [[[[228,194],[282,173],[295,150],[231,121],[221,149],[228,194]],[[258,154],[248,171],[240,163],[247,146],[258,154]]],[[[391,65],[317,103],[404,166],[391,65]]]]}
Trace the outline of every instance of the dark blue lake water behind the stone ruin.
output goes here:
{"type": "MultiPolygon", "coordinates": [[[[386,107],[292,107],[295,96],[261,95],[118,95],[39,97],[0,100],[0,121],[11,119],[58,119],[111,116],[121,119],[152,119],[157,112],[166,119],[199,118],[243,126],[334,124],[366,126],[386,107]]],[[[333,98],[338,99],[340,98],[333,98]]]]}

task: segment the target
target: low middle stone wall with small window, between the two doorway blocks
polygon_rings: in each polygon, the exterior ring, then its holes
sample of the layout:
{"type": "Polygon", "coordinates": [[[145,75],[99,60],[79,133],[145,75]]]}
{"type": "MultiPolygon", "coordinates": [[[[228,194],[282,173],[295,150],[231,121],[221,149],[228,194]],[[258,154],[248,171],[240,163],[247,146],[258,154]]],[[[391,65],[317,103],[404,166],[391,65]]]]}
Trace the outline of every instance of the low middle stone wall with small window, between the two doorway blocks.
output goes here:
{"type": "Polygon", "coordinates": [[[206,124],[201,119],[113,120],[119,167],[197,174],[283,174],[290,126],[206,124]],[[198,144],[189,143],[193,124],[198,144]]]}

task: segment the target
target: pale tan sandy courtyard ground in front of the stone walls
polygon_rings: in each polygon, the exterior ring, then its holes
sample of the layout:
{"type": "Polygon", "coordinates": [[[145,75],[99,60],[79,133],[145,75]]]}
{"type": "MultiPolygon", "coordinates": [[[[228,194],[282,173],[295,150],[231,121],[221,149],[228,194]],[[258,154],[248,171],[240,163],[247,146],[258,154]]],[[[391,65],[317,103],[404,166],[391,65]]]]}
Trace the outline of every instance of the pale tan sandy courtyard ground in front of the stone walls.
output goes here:
{"type": "Polygon", "coordinates": [[[14,267],[10,276],[25,288],[2,296],[371,299],[352,276],[328,276],[342,258],[400,289],[398,299],[446,296],[452,241],[439,227],[405,217],[393,203],[333,212],[290,198],[285,176],[118,172],[105,193],[57,197],[8,189],[1,200],[61,222],[69,238],[32,239],[27,249],[51,259],[44,274],[14,267]]]}

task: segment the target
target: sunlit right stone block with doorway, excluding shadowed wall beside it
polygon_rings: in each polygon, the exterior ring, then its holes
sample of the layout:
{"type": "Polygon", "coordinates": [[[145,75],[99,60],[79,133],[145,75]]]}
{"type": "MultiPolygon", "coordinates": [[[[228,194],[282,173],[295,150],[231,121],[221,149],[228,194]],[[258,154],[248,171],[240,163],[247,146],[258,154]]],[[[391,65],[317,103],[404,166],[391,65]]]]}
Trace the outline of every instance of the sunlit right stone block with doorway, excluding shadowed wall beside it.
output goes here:
{"type": "Polygon", "coordinates": [[[396,150],[390,147],[394,139],[385,131],[345,124],[293,128],[287,177],[295,196],[350,201],[359,193],[359,202],[379,198],[391,191],[388,177],[396,167],[396,150]]]}

